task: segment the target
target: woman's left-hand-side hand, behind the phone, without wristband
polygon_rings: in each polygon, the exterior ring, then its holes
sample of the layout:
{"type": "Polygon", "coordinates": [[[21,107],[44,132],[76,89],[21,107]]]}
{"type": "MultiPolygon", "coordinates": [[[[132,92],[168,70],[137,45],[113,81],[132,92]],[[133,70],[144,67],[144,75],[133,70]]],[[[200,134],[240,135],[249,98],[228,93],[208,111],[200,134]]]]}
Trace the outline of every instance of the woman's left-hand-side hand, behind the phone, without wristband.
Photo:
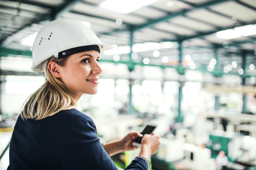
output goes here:
{"type": "Polygon", "coordinates": [[[140,134],[139,132],[132,132],[132,133],[128,133],[128,135],[126,135],[121,141],[120,144],[122,145],[122,150],[123,151],[129,151],[129,150],[134,150],[137,149],[138,147],[133,146],[131,143],[134,142],[134,140],[137,137],[143,137],[142,134],[140,134]]]}

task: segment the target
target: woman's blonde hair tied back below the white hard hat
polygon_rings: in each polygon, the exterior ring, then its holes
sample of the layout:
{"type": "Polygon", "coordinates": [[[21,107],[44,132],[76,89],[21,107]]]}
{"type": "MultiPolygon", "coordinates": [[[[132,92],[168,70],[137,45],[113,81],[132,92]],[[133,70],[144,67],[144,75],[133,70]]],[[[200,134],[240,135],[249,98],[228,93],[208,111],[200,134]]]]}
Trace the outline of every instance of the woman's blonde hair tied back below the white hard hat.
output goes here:
{"type": "MultiPolygon", "coordinates": [[[[56,62],[61,67],[66,65],[68,57],[57,59],[51,57],[49,62],[56,62]]],[[[76,100],[70,93],[67,86],[58,78],[52,75],[48,67],[46,68],[47,81],[31,94],[23,103],[24,108],[21,113],[24,119],[44,119],[47,116],[52,116],[59,111],[77,108],[76,100]]]]}

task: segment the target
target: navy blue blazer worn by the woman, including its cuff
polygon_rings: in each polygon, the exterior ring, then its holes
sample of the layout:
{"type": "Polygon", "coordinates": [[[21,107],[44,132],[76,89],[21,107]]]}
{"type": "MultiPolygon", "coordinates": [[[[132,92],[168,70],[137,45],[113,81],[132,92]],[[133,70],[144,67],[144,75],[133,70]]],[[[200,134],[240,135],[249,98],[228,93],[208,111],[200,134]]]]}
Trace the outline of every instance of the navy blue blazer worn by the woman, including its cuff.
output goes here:
{"type": "MultiPolygon", "coordinates": [[[[7,170],[118,170],[99,141],[93,120],[76,109],[41,120],[18,117],[7,170]]],[[[125,170],[148,170],[134,159],[125,170]]]]}

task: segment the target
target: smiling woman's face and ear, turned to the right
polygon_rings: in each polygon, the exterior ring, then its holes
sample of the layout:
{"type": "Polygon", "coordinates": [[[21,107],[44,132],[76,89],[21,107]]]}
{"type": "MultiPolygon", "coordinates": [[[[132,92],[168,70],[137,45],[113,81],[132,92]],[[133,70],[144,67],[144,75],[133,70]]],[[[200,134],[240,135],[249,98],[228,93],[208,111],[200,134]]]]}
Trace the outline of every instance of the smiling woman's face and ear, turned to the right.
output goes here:
{"type": "Polygon", "coordinates": [[[98,51],[85,51],[71,55],[66,65],[60,67],[59,79],[67,85],[75,99],[79,99],[82,94],[97,93],[98,79],[102,73],[98,62],[98,51]]]}

